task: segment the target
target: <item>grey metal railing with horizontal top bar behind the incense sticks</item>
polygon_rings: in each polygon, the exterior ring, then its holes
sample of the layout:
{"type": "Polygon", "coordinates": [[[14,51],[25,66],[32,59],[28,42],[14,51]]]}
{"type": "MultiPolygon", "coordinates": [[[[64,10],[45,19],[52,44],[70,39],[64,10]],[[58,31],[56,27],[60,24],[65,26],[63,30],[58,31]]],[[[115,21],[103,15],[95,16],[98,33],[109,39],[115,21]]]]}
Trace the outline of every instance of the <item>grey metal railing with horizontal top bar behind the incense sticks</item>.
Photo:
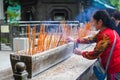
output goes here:
{"type": "MultiPolygon", "coordinates": [[[[37,26],[37,32],[39,33],[40,25],[43,24],[44,27],[49,27],[49,29],[54,29],[56,26],[60,26],[60,24],[68,24],[69,26],[78,26],[79,21],[17,21],[9,24],[9,40],[10,47],[13,50],[13,38],[15,37],[26,37],[26,27],[29,25],[32,29],[32,27],[37,26]],[[17,25],[14,25],[17,24],[17,25]]],[[[1,30],[0,30],[1,31],[1,30]]],[[[0,32],[0,37],[3,34],[0,32]]],[[[0,39],[1,40],[1,39],[0,39]]],[[[1,42],[0,42],[0,50],[1,50],[1,42]]]]}

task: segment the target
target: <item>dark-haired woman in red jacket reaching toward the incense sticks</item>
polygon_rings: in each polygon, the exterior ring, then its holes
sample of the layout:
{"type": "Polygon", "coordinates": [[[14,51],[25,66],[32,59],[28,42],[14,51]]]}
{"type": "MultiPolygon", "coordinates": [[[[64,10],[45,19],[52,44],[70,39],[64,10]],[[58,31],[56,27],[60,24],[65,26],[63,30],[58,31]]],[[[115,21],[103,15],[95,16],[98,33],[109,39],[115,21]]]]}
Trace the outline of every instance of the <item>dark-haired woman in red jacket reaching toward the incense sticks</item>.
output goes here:
{"type": "MultiPolygon", "coordinates": [[[[106,62],[114,41],[114,27],[110,16],[105,11],[96,11],[93,15],[93,25],[99,33],[92,38],[86,39],[77,39],[78,43],[91,43],[96,42],[96,46],[93,51],[80,51],[79,49],[75,49],[75,54],[82,55],[87,59],[96,59],[100,57],[101,63],[103,67],[106,67],[106,62]]],[[[119,35],[115,31],[116,35],[116,44],[112,53],[112,57],[107,70],[107,79],[108,80],[120,80],[120,39],[119,35]],[[119,76],[118,76],[119,75],[119,76]]],[[[72,39],[68,39],[72,40],[72,39]]]]}

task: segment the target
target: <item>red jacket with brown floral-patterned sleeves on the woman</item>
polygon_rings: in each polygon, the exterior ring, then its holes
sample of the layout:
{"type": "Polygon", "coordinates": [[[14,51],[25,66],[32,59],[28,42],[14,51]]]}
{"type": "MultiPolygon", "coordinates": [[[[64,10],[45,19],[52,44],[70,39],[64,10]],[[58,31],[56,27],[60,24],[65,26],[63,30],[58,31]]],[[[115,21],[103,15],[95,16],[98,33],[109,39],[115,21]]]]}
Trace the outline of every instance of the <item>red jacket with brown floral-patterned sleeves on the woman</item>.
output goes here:
{"type": "MultiPolygon", "coordinates": [[[[120,38],[117,32],[115,32],[115,34],[117,40],[108,67],[108,74],[120,72],[120,38]]],[[[105,67],[114,41],[113,30],[105,28],[93,38],[85,39],[83,43],[91,41],[95,41],[97,43],[94,50],[82,52],[82,56],[88,59],[96,59],[100,57],[101,62],[105,67]]]]}

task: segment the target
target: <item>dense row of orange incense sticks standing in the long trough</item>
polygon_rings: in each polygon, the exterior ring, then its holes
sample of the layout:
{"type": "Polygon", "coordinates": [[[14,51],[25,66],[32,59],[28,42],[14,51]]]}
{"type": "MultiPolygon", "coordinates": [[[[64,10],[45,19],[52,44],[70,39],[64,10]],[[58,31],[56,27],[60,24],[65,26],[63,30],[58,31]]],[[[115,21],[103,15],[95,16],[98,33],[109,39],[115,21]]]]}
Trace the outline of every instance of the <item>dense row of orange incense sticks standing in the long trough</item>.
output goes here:
{"type": "MultiPolygon", "coordinates": [[[[55,32],[48,33],[47,31],[45,32],[44,24],[41,24],[37,41],[36,41],[36,26],[32,28],[32,33],[31,33],[30,25],[28,25],[27,26],[27,37],[28,37],[27,55],[34,55],[37,53],[41,53],[45,50],[49,50],[57,46],[66,44],[66,38],[74,34],[77,31],[76,30],[77,28],[72,29],[69,25],[66,24],[65,21],[63,21],[60,25],[62,26],[58,26],[55,32]]],[[[76,37],[76,35],[74,36],[76,37]]]]}

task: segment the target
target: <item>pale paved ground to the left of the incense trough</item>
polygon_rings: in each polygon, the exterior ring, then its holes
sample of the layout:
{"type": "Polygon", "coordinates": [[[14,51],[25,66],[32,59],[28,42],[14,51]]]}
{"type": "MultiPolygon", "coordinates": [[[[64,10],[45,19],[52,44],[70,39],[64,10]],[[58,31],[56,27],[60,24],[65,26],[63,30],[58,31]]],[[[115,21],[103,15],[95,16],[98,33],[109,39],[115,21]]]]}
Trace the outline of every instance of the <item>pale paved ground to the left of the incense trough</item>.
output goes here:
{"type": "Polygon", "coordinates": [[[10,64],[10,53],[12,53],[12,49],[5,44],[1,44],[0,80],[10,80],[9,75],[12,74],[11,64],[10,64]]]}

